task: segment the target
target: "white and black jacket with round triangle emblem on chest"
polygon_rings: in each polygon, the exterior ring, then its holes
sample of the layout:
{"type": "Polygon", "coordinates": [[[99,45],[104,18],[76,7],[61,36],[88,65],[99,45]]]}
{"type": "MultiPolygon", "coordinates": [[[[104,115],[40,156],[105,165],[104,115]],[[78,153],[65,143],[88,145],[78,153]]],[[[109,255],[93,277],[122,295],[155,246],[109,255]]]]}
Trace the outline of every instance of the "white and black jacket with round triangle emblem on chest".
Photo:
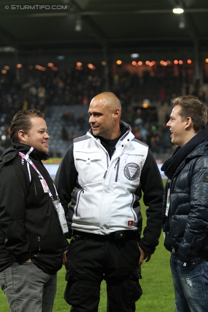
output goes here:
{"type": "Polygon", "coordinates": [[[126,132],[111,159],[91,130],[74,139],[57,171],[57,192],[69,229],[107,235],[122,230],[141,233],[138,201],[143,191],[149,207],[140,245],[153,253],[162,227],[161,175],[148,146],[134,138],[129,125],[121,121],[120,127],[126,132]]]}

